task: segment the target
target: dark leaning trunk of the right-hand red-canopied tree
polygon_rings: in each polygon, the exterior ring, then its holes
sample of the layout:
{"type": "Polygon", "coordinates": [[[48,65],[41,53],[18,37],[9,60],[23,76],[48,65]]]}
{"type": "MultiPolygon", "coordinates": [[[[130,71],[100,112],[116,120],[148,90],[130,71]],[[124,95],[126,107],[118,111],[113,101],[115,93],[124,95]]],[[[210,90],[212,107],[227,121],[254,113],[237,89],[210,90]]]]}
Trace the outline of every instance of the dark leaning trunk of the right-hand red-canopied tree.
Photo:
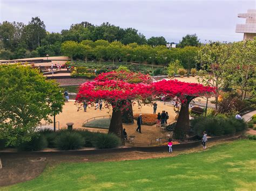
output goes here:
{"type": "Polygon", "coordinates": [[[188,107],[193,98],[194,97],[188,97],[187,102],[181,104],[179,117],[174,128],[173,137],[175,139],[185,139],[186,135],[190,132],[190,114],[188,112],[188,107]]]}

